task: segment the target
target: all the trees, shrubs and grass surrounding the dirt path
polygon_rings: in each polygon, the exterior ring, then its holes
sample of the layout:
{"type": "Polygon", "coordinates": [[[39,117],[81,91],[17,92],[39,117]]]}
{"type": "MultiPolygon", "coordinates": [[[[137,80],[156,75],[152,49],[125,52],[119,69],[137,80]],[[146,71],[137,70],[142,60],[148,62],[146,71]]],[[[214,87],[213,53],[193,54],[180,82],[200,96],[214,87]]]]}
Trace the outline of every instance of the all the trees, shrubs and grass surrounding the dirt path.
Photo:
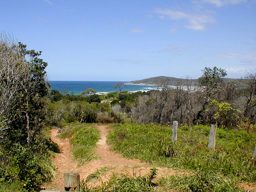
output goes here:
{"type": "Polygon", "coordinates": [[[225,80],[224,69],[204,68],[198,80],[150,79],[157,89],[148,92],[122,92],[120,82],[118,92],[74,95],[50,90],[41,52],[6,34],[0,40],[0,191],[36,191],[52,180],[52,127],[70,138],[80,165],[97,158],[95,123],[111,123],[112,150],[153,168],[147,176],[113,175],[98,188],[83,183],[85,191],[243,191],[240,183],[256,182],[256,74],[225,80]],[[207,146],[210,124],[218,126],[215,150],[207,146]],[[154,165],[185,174],[155,180],[154,165]]]}

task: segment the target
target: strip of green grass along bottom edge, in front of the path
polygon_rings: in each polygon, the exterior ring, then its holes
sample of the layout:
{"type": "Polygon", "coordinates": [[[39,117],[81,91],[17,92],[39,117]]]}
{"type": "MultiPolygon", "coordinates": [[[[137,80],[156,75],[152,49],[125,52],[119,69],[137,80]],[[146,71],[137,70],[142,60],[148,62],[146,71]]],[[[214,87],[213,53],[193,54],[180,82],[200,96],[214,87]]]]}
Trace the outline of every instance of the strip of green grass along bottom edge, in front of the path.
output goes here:
{"type": "Polygon", "coordinates": [[[113,174],[108,182],[97,187],[88,186],[82,181],[80,190],[82,192],[244,192],[232,180],[227,180],[213,172],[206,173],[197,170],[192,175],[164,176],[158,181],[153,181],[156,174],[156,168],[152,168],[146,176],[136,175],[136,173],[132,176],[113,174]]]}

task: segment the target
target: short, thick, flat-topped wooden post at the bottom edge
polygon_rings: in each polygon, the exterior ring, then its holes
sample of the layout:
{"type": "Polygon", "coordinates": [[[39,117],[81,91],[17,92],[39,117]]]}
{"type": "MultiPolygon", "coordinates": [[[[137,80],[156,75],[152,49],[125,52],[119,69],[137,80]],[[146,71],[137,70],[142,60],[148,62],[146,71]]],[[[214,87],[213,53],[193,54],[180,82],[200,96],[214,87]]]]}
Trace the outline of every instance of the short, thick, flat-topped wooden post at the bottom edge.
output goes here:
{"type": "Polygon", "coordinates": [[[65,191],[80,191],[79,173],[64,173],[65,191]]]}

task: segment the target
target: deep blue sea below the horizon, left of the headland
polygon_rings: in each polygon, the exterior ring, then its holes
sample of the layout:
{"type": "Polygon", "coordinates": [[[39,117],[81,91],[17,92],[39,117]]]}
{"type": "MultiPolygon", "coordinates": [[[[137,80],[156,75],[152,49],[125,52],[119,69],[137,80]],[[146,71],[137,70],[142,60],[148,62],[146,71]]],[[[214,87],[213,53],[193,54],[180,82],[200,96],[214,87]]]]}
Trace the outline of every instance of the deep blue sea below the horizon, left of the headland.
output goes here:
{"type": "MultiPolygon", "coordinates": [[[[97,91],[97,94],[107,94],[110,92],[117,92],[118,89],[114,89],[113,86],[117,84],[118,81],[50,81],[51,89],[58,90],[68,90],[68,93],[74,91],[75,95],[80,94],[82,91],[93,88],[97,91]]],[[[128,83],[128,82],[124,82],[128,83]]],[[[129,92],[147,92],[149,90],[155,89],[154,85],[131,85],[127,84],[127,87],[123,88],[122,91],[129,92]]]]}

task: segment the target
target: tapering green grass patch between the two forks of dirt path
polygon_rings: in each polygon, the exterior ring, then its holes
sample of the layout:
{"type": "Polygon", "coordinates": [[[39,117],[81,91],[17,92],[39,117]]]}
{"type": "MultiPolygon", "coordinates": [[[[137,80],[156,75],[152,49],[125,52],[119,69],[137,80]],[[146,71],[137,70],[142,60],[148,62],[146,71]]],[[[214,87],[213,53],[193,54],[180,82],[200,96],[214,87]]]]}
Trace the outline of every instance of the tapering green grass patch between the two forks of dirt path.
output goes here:
{"type": "Polygon", "coordinates": [[[64,127],[61,138],[71,138],[72,151],[80,165],[98,158],[94,155],[94,147],[100,139],[99,131],[94,128],[95,124],[70,123],[64,127]]]}

